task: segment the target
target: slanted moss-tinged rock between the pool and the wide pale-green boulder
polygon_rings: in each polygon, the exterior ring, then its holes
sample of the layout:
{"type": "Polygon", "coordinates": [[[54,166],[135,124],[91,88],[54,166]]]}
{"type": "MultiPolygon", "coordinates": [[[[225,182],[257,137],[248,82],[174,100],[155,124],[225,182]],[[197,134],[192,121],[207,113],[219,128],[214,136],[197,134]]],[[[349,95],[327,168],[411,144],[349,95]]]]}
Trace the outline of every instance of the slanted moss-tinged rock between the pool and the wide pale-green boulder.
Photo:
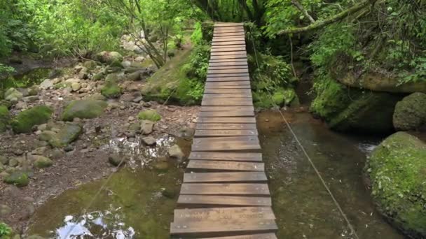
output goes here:
{"type": "Polygon", "coordinates": [[[62,129],[55,136],[50,138],[49,143],[53,147],[65,147],[77,140],[81,133],[83,133],[83,127],[80,124],[68,123],[62,126],[62,129]]]}

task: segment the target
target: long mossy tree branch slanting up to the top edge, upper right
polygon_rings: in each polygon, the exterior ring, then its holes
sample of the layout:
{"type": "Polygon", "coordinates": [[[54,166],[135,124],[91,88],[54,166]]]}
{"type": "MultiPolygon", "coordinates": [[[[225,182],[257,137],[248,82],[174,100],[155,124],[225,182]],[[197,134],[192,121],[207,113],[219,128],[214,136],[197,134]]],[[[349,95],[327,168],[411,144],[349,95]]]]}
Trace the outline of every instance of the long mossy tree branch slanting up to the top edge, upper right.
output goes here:
{"type": "Polygon", "coordinates": [[[313,31],[313,30],[320,29],[320,28],[325,27],[325,26],[327,26],[331,23],[338,22],[338,21],[342,20],[343,18],[348,17],[348,15],[350,15],[352,13],[357,13],[357,11],[362,10],[363,8],[366,8],[367,6],[369,6],[370,2],[371,2],[371,0],[364,0],[364,1],[357,3],[354,6],[348,8],[347,10],[344,10],[343,12],[338,13],[338,14],[336,14],[332,17],[329,17],[325,20],[316,21],[315,23],[312,23],[307,27],[285,29],[285,30],[279,31],[278,35],[298,34],[298,33],[306,32],[306,31],[313,31]]]}

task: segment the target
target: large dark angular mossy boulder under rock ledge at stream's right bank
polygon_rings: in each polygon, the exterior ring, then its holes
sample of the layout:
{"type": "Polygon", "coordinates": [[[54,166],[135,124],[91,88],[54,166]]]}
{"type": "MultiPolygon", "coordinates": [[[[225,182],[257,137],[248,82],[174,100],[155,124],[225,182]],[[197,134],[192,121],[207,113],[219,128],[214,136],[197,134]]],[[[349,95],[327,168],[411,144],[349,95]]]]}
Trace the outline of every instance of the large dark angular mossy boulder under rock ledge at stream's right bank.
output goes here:
{"type": "Polygon", "coordinates": [[[395,105],[403,96],[346,87],[335,80],[324,80],[322,91],[310,110],[322,117],[331,129],[357,132],[390,132],[395,105]]]}

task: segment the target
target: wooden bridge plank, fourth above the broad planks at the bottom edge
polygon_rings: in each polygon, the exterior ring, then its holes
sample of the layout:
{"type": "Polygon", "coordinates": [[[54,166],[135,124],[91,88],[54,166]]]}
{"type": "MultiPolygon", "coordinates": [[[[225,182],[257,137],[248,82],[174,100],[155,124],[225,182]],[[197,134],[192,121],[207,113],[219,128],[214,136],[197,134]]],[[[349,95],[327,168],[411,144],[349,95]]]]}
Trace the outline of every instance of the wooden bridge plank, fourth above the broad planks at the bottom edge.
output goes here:
{"type": "Polygon", "coordinates": [[[190,160],[188,169],[220,170],[220,171],[265,171],[265,164],[237,161],[190,160]]]}

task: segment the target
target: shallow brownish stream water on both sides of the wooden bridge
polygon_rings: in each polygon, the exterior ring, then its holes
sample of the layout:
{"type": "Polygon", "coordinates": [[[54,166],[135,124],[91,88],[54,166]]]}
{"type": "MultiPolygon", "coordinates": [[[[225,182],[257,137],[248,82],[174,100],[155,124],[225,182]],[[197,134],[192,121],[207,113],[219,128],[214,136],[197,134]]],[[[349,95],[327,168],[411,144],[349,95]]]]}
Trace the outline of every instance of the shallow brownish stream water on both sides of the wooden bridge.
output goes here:
{"type": "MultiPolygon", "coordinates": [[[[285,115],[359,238],[404,238],[378,215],[362,178],[366,155],[380,138],[334,133],[308,113],[285,115]]],[[[259,114],[258,128],[280,227],[278,238],[353,238],[308,159],[282,124],[280,114],[259,114]]],[[[144,164],[133,163],[114,173],[101,191],[105,180],[51,198],[36,211],[29,234],[51,238],[168,238],[184,172],[164,157],[165,149],[175,141],[160,139],[159,146],[146,149],[118,140],[132,149],[129,153],[143,155],[144,164]],[[83,212],[83,208],[89,210],[83,212]]],[[[176,142],[189,152],[190,142],[176,142]]]]}

